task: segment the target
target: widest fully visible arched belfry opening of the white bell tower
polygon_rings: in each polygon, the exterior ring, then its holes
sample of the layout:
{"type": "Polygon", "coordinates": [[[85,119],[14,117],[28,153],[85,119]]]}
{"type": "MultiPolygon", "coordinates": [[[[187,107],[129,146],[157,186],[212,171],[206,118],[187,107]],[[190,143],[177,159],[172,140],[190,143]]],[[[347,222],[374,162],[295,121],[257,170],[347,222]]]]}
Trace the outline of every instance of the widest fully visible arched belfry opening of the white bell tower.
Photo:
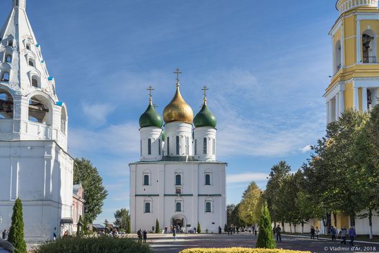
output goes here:
{"type": "Polygon", "coordinates": [[[29,121],[51,125],[52,117],[48,103],[48,99],[44,97],[32,97],[29,101],[29,121]]]}

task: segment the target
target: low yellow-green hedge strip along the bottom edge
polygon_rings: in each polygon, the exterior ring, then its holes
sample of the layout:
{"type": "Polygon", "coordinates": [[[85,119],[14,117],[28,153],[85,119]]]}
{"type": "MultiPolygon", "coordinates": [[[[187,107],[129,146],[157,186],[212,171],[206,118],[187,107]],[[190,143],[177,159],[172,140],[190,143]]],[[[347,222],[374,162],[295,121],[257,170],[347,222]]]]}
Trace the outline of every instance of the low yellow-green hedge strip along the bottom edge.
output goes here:
{"type": "Polygon", "coordinates": [[[194,248],[182,250],[180,253],[311,253],[309,251],[298,251],[298,250],[282,250],[282,249],[249,249],[246,247],[228,247],[228,248],[194,248]]]}

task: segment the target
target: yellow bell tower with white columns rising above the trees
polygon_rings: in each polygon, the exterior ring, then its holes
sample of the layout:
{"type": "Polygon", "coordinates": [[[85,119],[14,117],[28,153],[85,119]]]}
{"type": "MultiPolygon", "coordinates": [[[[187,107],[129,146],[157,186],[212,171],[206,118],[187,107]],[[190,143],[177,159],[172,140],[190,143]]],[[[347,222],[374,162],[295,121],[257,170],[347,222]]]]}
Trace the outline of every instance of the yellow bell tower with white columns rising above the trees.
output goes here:
{"type": "Polygon", "coordinates": [[[343,110],[371,110],[378,103],[378,0],[338,0],[331,28],[333,77],[324,94],[327,123],[343,110]]]}

